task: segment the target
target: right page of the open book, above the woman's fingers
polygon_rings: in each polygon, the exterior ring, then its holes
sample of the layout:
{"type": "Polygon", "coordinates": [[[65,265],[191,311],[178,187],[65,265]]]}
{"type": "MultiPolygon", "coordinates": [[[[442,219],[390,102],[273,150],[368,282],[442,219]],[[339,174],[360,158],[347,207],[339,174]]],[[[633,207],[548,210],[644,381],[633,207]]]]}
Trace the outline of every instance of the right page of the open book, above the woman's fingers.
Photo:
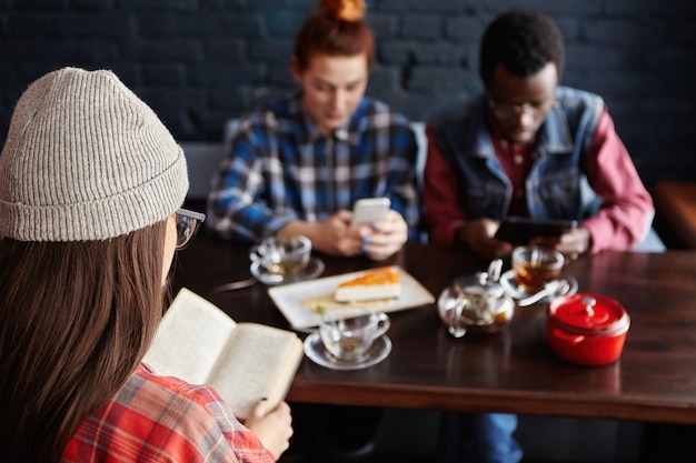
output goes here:
{"type": "Polygon", "coordinates": [[[266,397],[275,407],[285,399],[302,355],[302,342],[296,333],[239,323],[209,384],[236,416],[246,419],[259,400],[266,397]]]}

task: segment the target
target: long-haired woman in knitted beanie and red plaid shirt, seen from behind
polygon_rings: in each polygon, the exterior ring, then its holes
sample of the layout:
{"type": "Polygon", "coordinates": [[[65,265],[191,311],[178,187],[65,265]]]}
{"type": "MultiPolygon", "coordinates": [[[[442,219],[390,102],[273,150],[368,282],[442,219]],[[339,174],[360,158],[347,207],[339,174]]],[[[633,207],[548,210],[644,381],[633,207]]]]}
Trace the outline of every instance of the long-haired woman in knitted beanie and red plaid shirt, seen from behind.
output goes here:
{"type": "Polygon", "coordinates": [[[141,363],[175,250],[186,160],[109,71],[22,94],[0,155],[0,455],[13,462],[272,462],[286,403],[242,425],[218,393],[141,363]]]}

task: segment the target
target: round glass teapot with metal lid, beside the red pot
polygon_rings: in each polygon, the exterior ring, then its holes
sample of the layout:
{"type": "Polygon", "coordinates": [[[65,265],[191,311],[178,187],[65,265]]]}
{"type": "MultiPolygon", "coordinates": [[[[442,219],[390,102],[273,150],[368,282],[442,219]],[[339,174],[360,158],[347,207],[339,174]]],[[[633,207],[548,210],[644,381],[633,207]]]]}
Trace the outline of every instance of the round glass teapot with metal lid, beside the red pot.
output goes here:
{"type": "Polygon", "coordinates": [[[515,302],[499,283],[503,261],[490,263],[487,272],[458,276],[440,293],[437,306],[449,333],[495,333],[513,319],[515,302]]]}

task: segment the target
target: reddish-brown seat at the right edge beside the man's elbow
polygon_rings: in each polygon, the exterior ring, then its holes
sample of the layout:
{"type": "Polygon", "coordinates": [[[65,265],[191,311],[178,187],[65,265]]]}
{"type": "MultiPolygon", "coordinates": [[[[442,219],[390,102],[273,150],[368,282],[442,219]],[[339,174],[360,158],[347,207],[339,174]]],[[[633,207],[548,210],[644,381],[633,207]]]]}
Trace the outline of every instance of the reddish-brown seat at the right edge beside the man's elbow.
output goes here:
{"type": "Polygon", "coordinates": [[[696,183],[655,183],[655,209],[687,249],[696,249],[696,183]]]}

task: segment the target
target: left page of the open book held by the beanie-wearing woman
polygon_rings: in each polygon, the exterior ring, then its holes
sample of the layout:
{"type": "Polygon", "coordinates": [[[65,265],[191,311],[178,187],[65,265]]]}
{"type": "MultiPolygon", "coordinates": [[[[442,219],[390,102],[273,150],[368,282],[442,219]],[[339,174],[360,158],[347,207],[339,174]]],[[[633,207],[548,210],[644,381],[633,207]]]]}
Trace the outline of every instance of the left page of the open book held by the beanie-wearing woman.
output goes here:
{"type": "Polygon", "coordinates": [[[143,362],[159,375],[208,384],[236,325],[216,305],[182,288],[165,313],[143,362]]]}

